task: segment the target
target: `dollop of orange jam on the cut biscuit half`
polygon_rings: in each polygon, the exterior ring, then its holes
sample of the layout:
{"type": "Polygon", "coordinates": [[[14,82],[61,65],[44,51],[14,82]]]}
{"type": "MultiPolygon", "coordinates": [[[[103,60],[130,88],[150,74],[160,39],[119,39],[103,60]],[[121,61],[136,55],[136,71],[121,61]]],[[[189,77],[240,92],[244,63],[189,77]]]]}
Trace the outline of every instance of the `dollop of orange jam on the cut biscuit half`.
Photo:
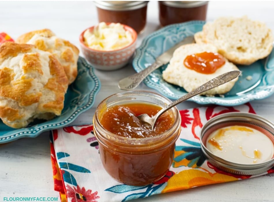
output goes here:
{"type": "Polygon", "coordinates": [[[186,68],[202,74],[213,74],[226,63],[224,57],[218,53],[203,52],[188,55],[184,60],[186,68]]]}

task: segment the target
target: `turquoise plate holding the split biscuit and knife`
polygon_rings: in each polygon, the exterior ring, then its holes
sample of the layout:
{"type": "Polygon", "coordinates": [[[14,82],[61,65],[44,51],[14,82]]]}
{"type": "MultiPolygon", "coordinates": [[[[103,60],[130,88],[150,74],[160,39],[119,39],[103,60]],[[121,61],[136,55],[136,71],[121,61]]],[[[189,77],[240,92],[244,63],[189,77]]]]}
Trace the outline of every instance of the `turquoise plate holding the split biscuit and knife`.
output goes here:
{"type": "MultiPolygon", "coordinates": [[[[148,35],[136,50],[136,56],[132,63],[133,68],[136,72],[147,68],[163,52],[184,38],[201,31],[204,23],[204,21],[190,21],[169,25],[148,35]]],[[[144,83],[170,99],[178,99],[187,92],[182,87],[172,85],[163,80],[162,72],[166,67],[167,65],[164,65],[152,72],[144,79],[144,83]]],[[[189,100],[199,104],[234,106],[255,99],[263,99],[274,93],[274,50],[267,61],[258,60],[249,66],[239,65],[238,68],[242,71],[242,76],[239,77],[234,87],[224,94],[224,97],[195,96],[189,100]],[[246,79],[247,76],[252,76],[252,79],[248,81],[246,79]]]]}

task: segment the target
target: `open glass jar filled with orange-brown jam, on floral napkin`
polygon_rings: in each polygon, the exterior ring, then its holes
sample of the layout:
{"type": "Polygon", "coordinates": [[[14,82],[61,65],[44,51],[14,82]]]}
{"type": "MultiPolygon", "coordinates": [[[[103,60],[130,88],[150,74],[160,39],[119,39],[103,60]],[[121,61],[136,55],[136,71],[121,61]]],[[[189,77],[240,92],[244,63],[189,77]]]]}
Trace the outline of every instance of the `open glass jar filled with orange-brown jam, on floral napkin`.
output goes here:
{"type": "Polygon", "coordinates": [[[145,123],[138,125],[136,116],[154,115],[170,103],[158,93],[123,91],[98,105],[93,130],[102,164],[110,176],[124,184],[141,186],[168,172],[181,131],[178,109],[174,107],[164,113],[154,130],[146,128],[145,123]]]}

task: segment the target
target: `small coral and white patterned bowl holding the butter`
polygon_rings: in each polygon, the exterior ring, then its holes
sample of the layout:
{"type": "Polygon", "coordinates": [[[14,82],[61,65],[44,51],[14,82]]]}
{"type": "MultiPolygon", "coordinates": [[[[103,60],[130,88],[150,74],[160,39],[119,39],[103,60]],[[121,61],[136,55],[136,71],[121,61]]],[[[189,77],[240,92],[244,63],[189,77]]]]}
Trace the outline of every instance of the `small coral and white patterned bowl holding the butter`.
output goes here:
{"type": "MultiPolygon", "coordinates": [[[[87,29],[89,29],[90,32],[93,32],[94,27],[95,26],[87,29]]],[[[84,42],[84,33],[87,29],[81,33],[79,37],[81,51],[85,59],[94,68],[105,71],[117,70],[130,61],[136,49],[137,33],[133,28],[127,25],[123,25],[123,27],[131,33],[133,40],[129,45],[113,51],[101,51],[89,48],[84,42]]]]}

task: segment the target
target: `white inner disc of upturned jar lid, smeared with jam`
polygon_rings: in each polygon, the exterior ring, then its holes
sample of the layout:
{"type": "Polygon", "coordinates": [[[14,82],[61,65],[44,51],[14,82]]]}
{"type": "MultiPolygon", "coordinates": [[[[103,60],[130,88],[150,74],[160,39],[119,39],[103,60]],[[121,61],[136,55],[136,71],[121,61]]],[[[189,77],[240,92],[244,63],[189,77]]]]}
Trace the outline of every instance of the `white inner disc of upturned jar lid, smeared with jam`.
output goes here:
{"type": "Polygon", "coordinates": [[[216,156],[240,164],[257,164],[273,158],[271,139],[247,126],[219,128],[207,138],[207,149],[216,156]]]}

